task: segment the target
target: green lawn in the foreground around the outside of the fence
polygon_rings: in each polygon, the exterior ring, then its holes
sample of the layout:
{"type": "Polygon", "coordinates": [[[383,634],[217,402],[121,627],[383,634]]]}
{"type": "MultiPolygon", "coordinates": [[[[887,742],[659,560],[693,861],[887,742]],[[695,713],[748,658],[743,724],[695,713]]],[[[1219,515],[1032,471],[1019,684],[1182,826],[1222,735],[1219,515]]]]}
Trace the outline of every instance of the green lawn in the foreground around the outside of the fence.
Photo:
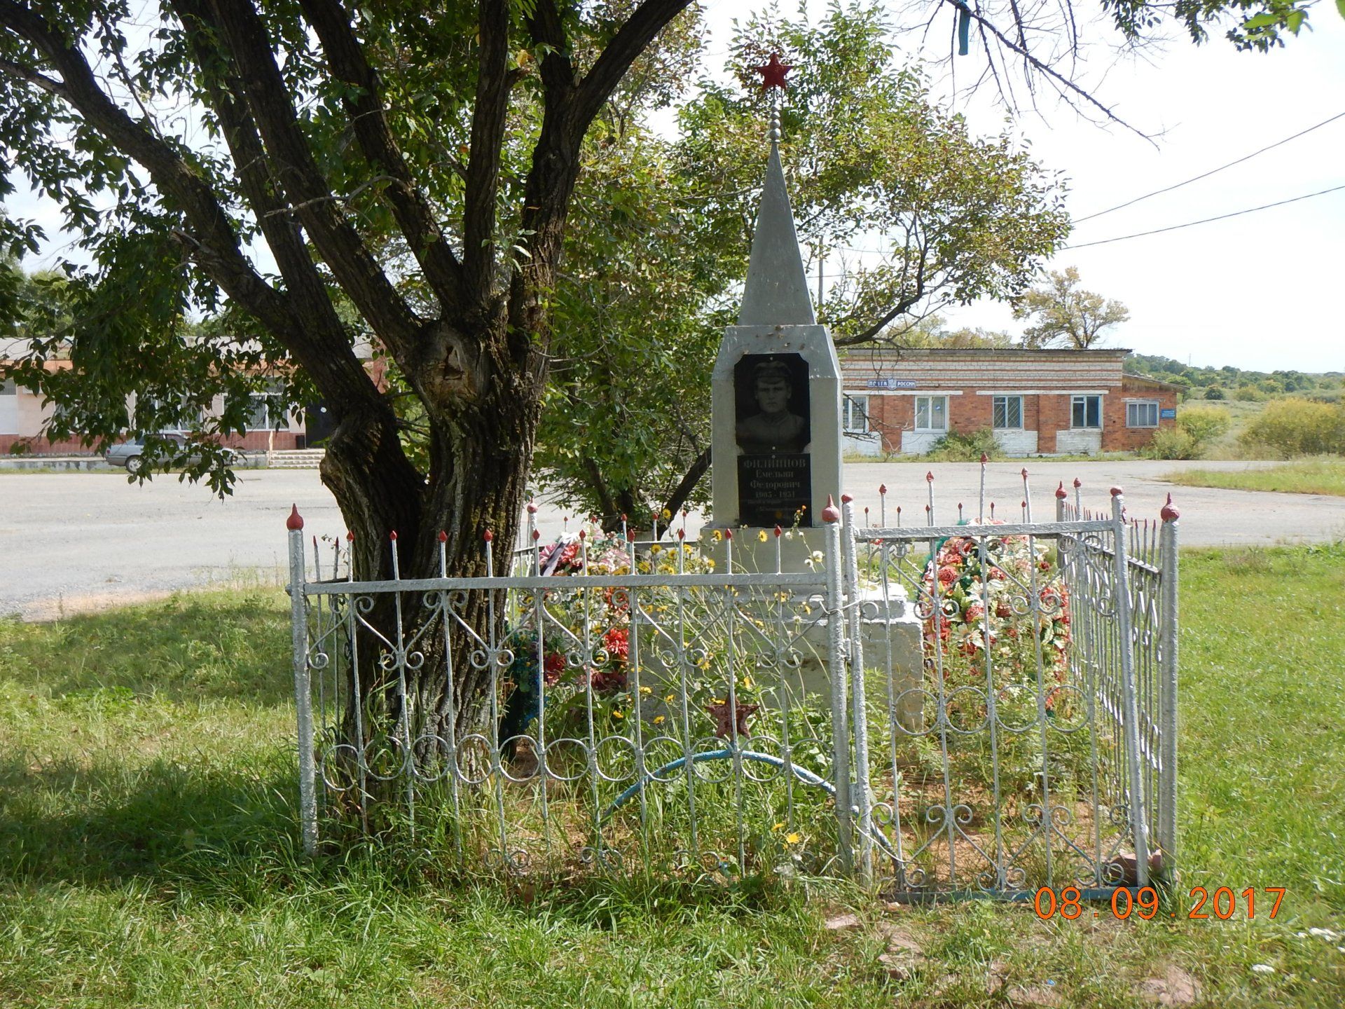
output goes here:
{"type": "Polygon", "coordinates": [[[1189,977],[1202,1005],[1334,1009],[1345,938],[1309,928],[1345,932],[1342,565],[1182,558],[1180,893],[1286,887],[1274,922],[1042,923],[824,883],[533,889],[394,842],[305,862],[282,595],[0,622],[0,1005],[1119,1009],[1189,977]]]}

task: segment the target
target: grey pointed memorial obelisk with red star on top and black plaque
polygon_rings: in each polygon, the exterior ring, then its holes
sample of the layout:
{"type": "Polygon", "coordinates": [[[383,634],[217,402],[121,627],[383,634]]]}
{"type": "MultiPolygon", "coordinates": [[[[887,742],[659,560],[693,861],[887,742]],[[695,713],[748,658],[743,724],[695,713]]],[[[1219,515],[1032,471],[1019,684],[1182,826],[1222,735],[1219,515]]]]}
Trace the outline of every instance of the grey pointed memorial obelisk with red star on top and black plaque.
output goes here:
{"type": "MultiPolygon", "coordinates": [[[[772,55],[757,67],[763,90],[783,90],[788,70],[772,55]]],[[[712,379],[712,527],[720,529],[808,530],[820,525],[829,495],[841,499],[841,366],[808,296],[780,165],[776,108],[772,102],[742,307],[737,326],[725,330],[712,379]]],[[[796,535],[781,545],[787,569],[820,548],[820,541],[808,542],[812,538],[796,535]]],[[[741,552],[753,541],[736,542],[741,552]]]]}

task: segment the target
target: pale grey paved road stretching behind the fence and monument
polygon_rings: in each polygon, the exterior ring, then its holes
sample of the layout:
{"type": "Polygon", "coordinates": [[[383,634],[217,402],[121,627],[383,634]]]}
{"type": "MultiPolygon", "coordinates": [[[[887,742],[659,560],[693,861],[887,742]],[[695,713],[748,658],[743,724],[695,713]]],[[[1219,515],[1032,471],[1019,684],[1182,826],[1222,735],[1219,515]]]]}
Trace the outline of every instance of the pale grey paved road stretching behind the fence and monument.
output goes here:
{"type": "MultiPolygon", "coordinates": [[[[987,468],[987,500],[997,517],[1017,519],[1024,463],[987,468]]],[[[1034,518],[1052,518],[1057,483],[1083,482],[1085,507],[1107,509],[1108,488],[1126,491],[1130,515],[1157,518],[1169,491],[1181,510],[1185,545],[1275,544],[1345,538],[1345,498],[1305,494],[1173,487],[1162,482],[1180,463],[1054,463],[1028,460],[1034,518]]],[[[1202,463],[1243,468],[1264,463],[1202,463]]],[[[904,525],[924,522],[933,472],[936,518],[955,521],[958,503],[974,514],[979,465],[960,463],[863,463],[846,465],[846,487],[859,515],[878,522],[878,486],[888,486],[886,514],[904,525]]],[[[204,487],[160,476],[129,484],[120,474],[13,474],[0,471],[0,615],[51,619],[174,589],[218,581],[280,583],[285,566],[285,518],[297,503],[305,531],[340,535],[332,496],[312,470],[261,470],[239,475],[235,494],[218,500],[204,487]]],[[[543,534],[560,533],[565,510],[542,507],[543,534]]],[[[862,521],[862,518],[861,518],[862,521]]],[[[573,525],[573,521],[572,521],[573,525]]],[[[699,521],[691,515],[687,531],[699,521]]]]}

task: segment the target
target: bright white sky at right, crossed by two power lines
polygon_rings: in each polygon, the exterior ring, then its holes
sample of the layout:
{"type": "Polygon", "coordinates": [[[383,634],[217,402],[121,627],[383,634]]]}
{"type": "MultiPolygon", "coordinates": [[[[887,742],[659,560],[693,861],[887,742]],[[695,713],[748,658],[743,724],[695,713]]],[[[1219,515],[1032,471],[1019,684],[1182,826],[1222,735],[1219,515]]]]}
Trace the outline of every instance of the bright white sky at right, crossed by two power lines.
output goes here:
{"type": "MultiPolygon", "coordinates": [[[[764,3],[709,3],[710,51],[722,62],[733,17],[764,3]]],[[[824,4],[810,3],[820,12],[824,4]]],[[[792,4],[787,5],[792,9],[792,4]]],[[[894,13],[893,17],[898,15],[894,13]]],[[[940,15],[942,16],[942,15],[940,15]]],[[[948,19],[946,19],[948,20],[948,19]]],[[[1017,132],[1069,180],[1077,219],[1163,188],[1345,113],[1345,20],[1334,4],[1311,11],[1314,31],[1270,54],[1237,52],[1221,38],[1193,46],[1174,38],[1147,62],[1115,61],[1102,48],[1089,73],[1098,94],[1150,143],[1100,128],[1063,104],[1020,116],[1017,132]]],[[[942,23],[940,23],[942,24],[942,23]]],[[[928,58],[947,55],[948,27],[931,32],[928,58]]],[[[911,39],[913,44],[916,39],[911,39]]],[[[917,50],[912,50],[917,54],[917,50]]],[[[983,57],[958,58],[971,79],[983,57]]],[[[946,101],[972,128],[993,133],[1003,108],[987,91],[946,101]]],[[[1077,225],[1071,244],[1093,242],[1302,196],[1345,184],[1345,118],[1213,178],[1077,225]]],[[[1345,370],[1345,190],[1228,221],[1122,242],[1071,249],[1049,264],[1077,266],[1083,285],[1130,308],[1111,346],[1196,365],[1345,370]]],[[[1002,304],[974,304],[954,326],[1020,332],[1002,304]]]]}

